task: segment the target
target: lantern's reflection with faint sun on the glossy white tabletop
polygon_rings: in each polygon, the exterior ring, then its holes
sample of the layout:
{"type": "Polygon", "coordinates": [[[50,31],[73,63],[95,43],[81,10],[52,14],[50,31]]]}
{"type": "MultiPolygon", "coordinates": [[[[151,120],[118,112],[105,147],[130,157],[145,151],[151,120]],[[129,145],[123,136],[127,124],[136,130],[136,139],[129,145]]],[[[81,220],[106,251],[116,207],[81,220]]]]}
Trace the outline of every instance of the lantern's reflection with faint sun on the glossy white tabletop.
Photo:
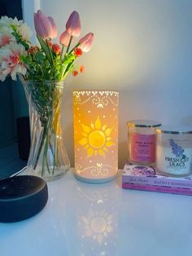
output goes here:
{"type": "Polygon", "coordinates": [[[80,255],[111,255],[116,248],[118,211],[114,183],[79,183],[76,188],[81,201],[76,213],[80,255]]]}

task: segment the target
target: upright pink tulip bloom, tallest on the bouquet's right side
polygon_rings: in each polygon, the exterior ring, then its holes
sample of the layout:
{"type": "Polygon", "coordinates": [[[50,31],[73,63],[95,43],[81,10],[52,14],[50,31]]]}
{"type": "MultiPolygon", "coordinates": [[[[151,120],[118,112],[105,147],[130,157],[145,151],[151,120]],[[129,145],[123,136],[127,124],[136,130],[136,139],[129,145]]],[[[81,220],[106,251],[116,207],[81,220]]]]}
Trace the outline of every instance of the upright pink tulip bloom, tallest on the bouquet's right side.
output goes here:
{"type": "Polygon", "coordinates": [[[81,20],[77,11],[72,11],[66,23],[68,33],[73,37],[78,37],[81,33],[81,20]]]}

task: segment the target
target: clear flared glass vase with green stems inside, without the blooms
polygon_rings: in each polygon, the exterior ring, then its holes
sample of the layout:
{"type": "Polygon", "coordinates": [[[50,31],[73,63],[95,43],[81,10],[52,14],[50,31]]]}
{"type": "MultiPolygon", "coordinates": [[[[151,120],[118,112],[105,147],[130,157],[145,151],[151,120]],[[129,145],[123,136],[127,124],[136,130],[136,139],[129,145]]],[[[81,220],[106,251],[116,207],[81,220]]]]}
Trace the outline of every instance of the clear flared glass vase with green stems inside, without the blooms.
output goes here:
{"type": "Polygon", "coordinates": [[[47,181],[57,179],[70,168],[60,118],[64,83],[20,80],[28,101],[31,131],[26,173],[47,181]]]}

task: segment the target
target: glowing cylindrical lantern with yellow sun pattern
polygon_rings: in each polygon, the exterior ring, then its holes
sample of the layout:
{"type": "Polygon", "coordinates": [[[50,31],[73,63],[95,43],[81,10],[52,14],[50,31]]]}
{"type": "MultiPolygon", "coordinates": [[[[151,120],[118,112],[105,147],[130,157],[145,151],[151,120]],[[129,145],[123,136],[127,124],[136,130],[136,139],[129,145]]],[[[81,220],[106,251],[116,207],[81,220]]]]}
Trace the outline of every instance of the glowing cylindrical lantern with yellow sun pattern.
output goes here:
{"type": "Polygon", "coordinates": [[[118,170],[119,93],[73,92],[75,176],[85,182],[107,182],[118,170]]]}

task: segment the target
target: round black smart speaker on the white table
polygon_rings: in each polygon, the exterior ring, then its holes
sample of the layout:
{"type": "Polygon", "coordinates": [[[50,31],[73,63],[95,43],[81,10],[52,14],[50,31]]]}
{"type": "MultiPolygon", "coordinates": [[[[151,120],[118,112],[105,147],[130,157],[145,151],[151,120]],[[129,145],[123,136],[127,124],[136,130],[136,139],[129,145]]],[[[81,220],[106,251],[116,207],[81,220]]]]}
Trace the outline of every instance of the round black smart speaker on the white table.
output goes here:
{"type": "Polygon", "coordinates": [[[0,181],[0,222],[13,223],[30,218],[46,205],[46,181],[22,175],[0,181]]]}

